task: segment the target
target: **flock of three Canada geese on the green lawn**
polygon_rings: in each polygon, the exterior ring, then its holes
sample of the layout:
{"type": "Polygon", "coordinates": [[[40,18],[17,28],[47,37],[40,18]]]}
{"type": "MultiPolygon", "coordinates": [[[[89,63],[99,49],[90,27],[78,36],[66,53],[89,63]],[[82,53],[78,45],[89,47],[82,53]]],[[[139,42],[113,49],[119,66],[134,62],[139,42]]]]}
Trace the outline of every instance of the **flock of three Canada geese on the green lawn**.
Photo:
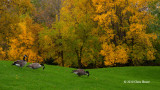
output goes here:
{"type": "MultiPolygon", "coordinates": [[[[15,62],[12,63],[12,65],[18,66],[18,67],[24,67],[27,64],[27,61],[25,61],[25,58],[27,57],[27,55],[24,55],[23,60],[17,60],[15,62]]],[[[31,68],[31,69],[38,69],[40,67],[43,67],[43,70],[45,68],[44,64],[39,64],[39,63],[32,63],[27,65],[27,67],[31,68]]],[[[83,69],[77,69],[77,70],[73,70],[72,73],[77,74],[78,76],[82,76],[82,75],[87,75],[89,76],[89,71],[85,71],[83,69]]]]}

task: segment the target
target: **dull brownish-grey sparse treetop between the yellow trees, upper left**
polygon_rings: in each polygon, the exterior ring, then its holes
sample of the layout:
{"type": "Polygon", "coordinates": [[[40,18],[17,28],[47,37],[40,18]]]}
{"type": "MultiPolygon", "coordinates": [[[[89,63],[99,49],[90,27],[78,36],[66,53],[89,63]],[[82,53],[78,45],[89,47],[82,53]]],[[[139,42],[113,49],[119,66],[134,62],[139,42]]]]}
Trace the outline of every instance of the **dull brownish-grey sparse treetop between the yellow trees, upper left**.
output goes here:
{"type": "Polygon", "coordinates": [[[61,1],[63,0],[31,0],[35,7],[34,21],[51,28],[52,23],[56,21],[56,15],[59,16],[61,1]]]}

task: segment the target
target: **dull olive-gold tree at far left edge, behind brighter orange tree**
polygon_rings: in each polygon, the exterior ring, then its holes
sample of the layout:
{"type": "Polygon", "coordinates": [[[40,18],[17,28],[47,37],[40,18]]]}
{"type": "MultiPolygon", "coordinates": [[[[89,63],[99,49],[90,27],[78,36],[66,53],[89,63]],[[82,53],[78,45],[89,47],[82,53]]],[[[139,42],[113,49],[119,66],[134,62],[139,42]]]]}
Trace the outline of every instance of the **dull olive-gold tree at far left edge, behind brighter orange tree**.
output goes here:
{"type": "Polygon", "coordinates": [[[1,0],[0,1],[0,48],[5,52],[5,59],[8,58],[7,51],[10,47],[10,39],[17,36],[20,17],[30,13],[33,7],[30,0],[1,0]]]}

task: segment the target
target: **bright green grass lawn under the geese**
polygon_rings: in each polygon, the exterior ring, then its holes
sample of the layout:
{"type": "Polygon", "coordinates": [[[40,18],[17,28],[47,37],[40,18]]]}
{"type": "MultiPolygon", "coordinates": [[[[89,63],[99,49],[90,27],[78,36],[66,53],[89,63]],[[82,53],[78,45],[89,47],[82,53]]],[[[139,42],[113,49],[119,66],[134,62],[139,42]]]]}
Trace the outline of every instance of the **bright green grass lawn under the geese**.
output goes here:
{"type": "Polygon", "coordinates": [[[160,66],[87,69],[89,77],[78,77],[71,73],[74,68],[45,65],[45,70],[32,70],[11,64],[0,61],[0,90],[160,90],[160,66]]]}

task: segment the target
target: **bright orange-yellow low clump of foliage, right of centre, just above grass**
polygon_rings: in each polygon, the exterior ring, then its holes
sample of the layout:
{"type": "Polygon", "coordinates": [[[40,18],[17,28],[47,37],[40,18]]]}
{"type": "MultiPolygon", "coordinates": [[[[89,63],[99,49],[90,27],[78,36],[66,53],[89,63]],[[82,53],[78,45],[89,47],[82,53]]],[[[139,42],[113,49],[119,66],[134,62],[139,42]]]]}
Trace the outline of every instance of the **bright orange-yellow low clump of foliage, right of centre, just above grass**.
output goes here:
{"type": "Polygon", "coordinates": [[[128,48],[124,45],[115,46],[114,44],[103,44],[101,55],[105,56],[105,65],[125,64],[128,62],[128,48]]]}

